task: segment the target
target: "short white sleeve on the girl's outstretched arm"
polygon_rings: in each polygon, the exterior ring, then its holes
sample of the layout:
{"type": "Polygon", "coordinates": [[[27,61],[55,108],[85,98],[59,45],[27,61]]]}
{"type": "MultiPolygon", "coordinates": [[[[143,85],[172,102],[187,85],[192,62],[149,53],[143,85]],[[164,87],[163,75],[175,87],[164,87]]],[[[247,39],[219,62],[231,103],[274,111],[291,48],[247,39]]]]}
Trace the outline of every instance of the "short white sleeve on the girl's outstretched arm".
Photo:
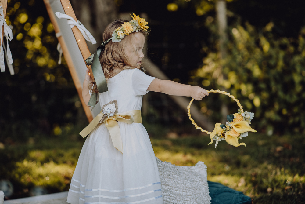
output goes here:
{"type": "Polygon", "coordinates": [[[149,91],[147,89],[154,79],[155,77],[146,75],[139,69],[134,69],[131,76],[131,83],[135,96],[145,95],[148,93],[149,91]]]}

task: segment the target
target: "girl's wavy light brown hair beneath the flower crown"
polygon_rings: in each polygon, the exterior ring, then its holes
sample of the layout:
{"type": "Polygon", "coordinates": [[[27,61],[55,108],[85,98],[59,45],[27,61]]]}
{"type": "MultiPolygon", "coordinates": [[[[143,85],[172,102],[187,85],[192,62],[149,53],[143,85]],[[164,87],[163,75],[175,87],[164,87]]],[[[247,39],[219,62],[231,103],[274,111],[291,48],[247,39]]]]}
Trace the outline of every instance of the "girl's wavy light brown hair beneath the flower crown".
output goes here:
{"type": "MultiPolygon", "coordinates": [[[[110,23],[104,33],[103,33],[103,41],[110,39],[112,33],[115,29],[120,27],[124,22],[128,22],[127,20],[115,20],[110,23]]],[[[145,37],[147,32],[145,31],[138,31],[142,33],[145,37]]],[[[135,66],[128,63],[127,55],[125,53],[126,47],[129,46],[133,33],[126,35],[121,42],[108,42],[105,45],[105,50],[102,52],[101,56],[99,57],[99,61],[102,65],[103,72],[105,75],[106,80],[113,77],[114,68],[120,69],[141,69],[141,64],[135,66]]],[[[92,90],[94,93],[99,93],[95,81],[88,84],[88,88],[92,90]],[[93,85],[93,88],[92,88],[93,85]]]]}

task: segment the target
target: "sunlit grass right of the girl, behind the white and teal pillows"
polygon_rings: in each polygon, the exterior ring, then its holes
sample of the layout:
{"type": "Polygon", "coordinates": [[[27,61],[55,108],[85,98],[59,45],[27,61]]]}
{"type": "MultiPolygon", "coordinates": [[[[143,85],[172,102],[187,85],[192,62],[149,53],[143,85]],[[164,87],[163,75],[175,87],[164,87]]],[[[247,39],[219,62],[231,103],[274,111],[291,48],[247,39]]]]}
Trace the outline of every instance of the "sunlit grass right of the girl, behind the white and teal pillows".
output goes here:
{"type": "MultiPolygon", "coordinates": [[[[305,202],[305,138],[268,137],[253,133],[233,147],[225,141],[217,148],[208,137],[154,140],[155,154],[163,161],[190,166],[207,165],[208,180],[242,191],[254,203],[305,202]]],[[[215,143],[214,143],[215,144],[215,143]]]]}

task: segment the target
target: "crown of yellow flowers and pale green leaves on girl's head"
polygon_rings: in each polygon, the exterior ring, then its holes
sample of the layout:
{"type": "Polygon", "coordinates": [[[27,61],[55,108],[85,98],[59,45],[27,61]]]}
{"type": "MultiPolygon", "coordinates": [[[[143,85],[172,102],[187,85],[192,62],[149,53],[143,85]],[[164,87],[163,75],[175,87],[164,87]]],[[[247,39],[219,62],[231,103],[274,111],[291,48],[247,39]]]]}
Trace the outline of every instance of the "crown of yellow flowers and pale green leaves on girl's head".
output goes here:
{"type": "Polygon", "coordinates": [[[120,27],[115,29],[109,41],[112,40],[112,42],[120,42],[126,35],[134,31],[147,31],[147,29],[149,29],[147,26],[148,22],[145,21],[145,18],[140,18],[139,15],[136,16],[134,13],[132,13],[132,15],[130,14],[133,20],[124,22],[120,27]]]}

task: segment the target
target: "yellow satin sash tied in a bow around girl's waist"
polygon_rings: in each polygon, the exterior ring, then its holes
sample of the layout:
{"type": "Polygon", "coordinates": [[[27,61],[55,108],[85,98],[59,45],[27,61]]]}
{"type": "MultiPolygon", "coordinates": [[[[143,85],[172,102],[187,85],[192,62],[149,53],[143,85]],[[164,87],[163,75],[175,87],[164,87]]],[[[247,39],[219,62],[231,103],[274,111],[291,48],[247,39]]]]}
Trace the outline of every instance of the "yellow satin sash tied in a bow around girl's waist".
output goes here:
{"type": "MultiPolygon", "coordinates": [[[[86,137],[94,128],[97,126],[102,119],[104,114],[102,111],[85,127],[79,134],[81,137],[86,137]]],[[[127,111],[125,113],[117,113],[112,117],[107,117],[103,123],[105,123],[107,129],[109,130],[110,137],[113,146],[123,154],[123,143],[121,139],[120,127],[116,121],[125,122],[127,124],[131,123],[142,123],[141,111],[127,111]]]]}

